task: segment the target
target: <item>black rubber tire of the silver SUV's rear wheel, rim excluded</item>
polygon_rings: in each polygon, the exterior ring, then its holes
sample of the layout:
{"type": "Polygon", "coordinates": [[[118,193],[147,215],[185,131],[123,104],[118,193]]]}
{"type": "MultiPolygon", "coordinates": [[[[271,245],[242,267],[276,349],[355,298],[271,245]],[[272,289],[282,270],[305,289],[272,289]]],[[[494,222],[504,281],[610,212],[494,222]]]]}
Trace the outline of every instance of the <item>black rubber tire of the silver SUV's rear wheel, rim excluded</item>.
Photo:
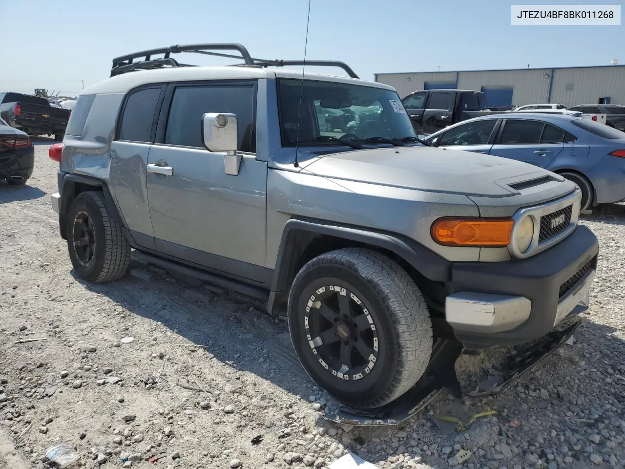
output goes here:
{"type": "Polygon", "coordinates": [[[131,247],[116,223],[104,194],[86,191],[78,194],[71,204],[67,218],[68,251],[74,270],[80,278],[91,283],[118,280],[128,271],[131,247]],[[74,230],[80,229],[79,218],[88,217],[93,226],[93,259],[84,263],[74,246],[74,230]]]}

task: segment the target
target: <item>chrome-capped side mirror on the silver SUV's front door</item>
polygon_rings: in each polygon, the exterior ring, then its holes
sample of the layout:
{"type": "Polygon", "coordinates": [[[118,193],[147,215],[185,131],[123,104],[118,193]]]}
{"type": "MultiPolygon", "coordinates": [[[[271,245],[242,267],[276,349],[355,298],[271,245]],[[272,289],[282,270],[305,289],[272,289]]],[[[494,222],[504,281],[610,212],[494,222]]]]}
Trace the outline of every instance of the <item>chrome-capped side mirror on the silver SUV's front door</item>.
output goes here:
{"type": "Polygon", "coordinates": [[[202,116],[202,143],[212,153],[224,154],[224,171],[236,176],[241,168],[236,114],[206,113],[202,116]]]}

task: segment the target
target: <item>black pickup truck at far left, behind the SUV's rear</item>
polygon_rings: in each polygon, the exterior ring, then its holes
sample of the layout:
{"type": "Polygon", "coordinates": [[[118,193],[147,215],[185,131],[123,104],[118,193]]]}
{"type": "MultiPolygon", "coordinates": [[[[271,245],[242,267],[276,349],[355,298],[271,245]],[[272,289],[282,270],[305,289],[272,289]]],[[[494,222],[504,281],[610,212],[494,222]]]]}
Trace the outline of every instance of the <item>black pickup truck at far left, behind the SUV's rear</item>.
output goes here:
{"type": "Polygon", "coordinates": [[[68,109],[54,108],[47,99],[29,94],[0,93],[0,118],[29,135],[52,135],[63,140],[68,126],[68,109]]]}

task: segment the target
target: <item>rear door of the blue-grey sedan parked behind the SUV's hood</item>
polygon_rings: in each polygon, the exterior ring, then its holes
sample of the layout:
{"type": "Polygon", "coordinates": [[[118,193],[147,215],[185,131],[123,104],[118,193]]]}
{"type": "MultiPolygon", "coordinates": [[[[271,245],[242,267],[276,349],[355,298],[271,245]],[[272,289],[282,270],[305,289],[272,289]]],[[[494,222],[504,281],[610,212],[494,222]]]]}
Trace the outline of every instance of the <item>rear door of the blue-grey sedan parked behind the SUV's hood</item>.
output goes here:
{"type": "Polygon", "coordinates": [[[533,119],[504,119],[490,153],[546,168],[564,148],[566,132],[533,119]]]}

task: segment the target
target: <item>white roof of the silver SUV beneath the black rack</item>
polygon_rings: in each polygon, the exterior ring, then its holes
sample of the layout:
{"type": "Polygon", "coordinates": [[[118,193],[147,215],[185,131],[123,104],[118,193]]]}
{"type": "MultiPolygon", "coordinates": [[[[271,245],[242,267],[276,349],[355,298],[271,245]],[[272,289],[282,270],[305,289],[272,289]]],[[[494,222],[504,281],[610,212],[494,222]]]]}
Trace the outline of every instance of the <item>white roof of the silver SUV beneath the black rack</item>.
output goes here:
{"type": "MultiPolygon", "coordinates": [[[[130,89],[148,83],[168,81],[217,80],[217,79],[259,79],[259,78],[302,78],[301,71],[291,69],[267,69],[254,67],[173,67],[152,70],[135,70],[111,78],[106,78],[81,94],[127,93],[130,89]]],[[[335,83],[356,84],[374,88],[391,89],[392,86],[374,81],[366,81],[345,76],[332,76],[321,73],[306,73],[304,79],[332,81],[335,83]]]]}

